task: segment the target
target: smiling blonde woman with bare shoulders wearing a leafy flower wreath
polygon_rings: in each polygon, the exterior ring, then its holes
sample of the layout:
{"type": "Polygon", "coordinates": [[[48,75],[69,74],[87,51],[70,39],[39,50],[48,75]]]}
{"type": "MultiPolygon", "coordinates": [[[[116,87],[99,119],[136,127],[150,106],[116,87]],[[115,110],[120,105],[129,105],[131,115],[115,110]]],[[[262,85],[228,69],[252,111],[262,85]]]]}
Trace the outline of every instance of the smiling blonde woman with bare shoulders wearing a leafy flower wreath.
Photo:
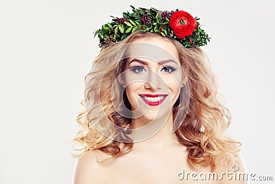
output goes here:
{"type": "Polygon", "coordinates": [[[246,183],[199,19],[132,8],[96,31],[73,183],[246,183]]]}

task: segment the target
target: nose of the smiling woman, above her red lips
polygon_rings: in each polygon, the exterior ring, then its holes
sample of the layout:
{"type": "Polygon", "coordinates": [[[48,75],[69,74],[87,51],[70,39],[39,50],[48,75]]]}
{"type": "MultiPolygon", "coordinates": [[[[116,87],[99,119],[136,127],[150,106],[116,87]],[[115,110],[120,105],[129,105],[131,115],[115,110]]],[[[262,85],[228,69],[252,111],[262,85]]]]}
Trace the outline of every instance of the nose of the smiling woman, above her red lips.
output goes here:
{"type": "Polygon", "coordinates": [[[153,70],[150,70],[144,81],[144,88],[150,90],[159,90],[162,89],[163,86],[164,80],[162,79],[162,77],[153,70]]]}

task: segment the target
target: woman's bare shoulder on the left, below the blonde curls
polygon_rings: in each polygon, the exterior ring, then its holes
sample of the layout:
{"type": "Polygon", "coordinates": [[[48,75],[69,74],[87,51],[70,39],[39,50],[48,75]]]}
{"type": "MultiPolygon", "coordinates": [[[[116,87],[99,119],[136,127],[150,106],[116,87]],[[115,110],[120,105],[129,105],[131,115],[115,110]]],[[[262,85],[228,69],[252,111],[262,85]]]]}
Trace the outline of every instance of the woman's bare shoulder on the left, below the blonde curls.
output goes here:
{"type": "Polygon", "coordinates": [[[89,150],[83,153],[74,167],[73,184],[100,183],[103,173],[100,172],[98,161],[107,159],[107,156],[99,150],[89,150]]]}

